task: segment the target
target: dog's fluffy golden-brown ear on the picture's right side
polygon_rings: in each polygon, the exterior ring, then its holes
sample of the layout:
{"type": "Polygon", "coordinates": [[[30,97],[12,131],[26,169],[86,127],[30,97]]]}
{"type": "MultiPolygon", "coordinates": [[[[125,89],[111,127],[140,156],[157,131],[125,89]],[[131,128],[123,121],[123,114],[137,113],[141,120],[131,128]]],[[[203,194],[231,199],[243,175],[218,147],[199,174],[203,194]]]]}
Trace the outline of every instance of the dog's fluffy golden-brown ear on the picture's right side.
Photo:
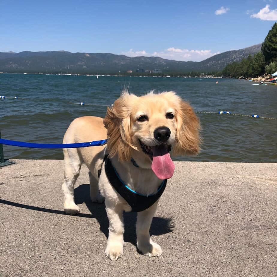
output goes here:
{"type": "Polygon", "coordinates": [[[192,107],[181,99],[176,120],[176,144],[174,145],[173,155],[196,155],[201,149],[201,139],[199,136],[201,129],[200,122],[192,107]]]}

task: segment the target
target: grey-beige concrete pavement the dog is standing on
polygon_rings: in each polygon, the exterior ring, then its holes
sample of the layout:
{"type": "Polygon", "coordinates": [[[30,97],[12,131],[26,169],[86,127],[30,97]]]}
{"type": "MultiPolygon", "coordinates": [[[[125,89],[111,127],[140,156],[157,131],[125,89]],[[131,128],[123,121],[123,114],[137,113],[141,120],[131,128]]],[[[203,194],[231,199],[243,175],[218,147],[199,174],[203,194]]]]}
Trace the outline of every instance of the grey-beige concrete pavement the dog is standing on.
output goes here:
{"type": "Polygon", "coordinates": [[[160,258],[135,246],[125,214],[124,256],[104,255],[104,204],[89,200],[83,166],[79,216],[63,211],[61,160],[0,168],[0,276],[277,276],[277,163],[176,162],[150,232],[160,258]]]}

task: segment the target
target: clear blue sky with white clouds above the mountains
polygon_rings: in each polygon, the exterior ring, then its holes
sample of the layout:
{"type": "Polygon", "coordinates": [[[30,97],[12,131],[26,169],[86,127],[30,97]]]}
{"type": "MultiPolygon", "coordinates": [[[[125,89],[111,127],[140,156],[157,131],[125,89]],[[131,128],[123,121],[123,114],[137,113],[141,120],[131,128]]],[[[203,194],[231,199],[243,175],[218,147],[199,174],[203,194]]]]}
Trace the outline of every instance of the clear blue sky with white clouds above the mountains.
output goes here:
{"type": "Polygon", "coordinates": [[[277,0],[0,1],[0,52],[66,50],[201,61],[264,41],[277,0]]]}

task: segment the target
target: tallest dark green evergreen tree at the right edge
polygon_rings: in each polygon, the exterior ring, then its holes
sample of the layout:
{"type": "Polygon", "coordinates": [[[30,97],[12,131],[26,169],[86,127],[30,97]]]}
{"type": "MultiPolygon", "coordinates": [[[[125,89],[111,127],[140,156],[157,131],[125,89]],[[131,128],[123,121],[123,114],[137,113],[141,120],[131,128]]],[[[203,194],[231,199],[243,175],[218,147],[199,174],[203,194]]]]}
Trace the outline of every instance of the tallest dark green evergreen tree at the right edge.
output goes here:
{"type": "Polygon", "coordinates": [[[277,23],[275,22],[271,30],[268,32],[264,43],[262,44],[262,53],[265,62],[269,64],[277,58],[277,23]]]}

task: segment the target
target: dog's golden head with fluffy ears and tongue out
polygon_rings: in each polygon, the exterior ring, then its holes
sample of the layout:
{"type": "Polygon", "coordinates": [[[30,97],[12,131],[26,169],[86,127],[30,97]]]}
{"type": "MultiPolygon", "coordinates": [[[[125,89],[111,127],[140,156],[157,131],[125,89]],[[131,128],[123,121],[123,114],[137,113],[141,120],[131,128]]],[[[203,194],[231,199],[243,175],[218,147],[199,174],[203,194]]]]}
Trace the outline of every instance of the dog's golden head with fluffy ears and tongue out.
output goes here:
{"type": "Polygon", "coordinates": [[[144,155],[144,162],[160,179],[174,172],[171,149],[175,156],[196,155],[200,150],[199,120],[173,91],[141,97],[123,92],[107,108],[104,126],[111,157],[118,155],[120,161],[126,161],[133,154],[144,155]]]}

